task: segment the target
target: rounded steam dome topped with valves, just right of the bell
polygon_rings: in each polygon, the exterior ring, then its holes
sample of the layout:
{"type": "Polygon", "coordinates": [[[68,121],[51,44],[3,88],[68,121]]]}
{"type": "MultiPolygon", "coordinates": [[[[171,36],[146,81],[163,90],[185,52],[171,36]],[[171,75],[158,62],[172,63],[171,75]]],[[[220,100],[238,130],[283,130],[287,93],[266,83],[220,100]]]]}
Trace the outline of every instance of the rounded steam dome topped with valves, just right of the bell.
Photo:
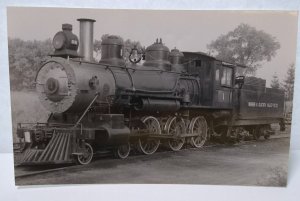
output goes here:
{"type": "Polygon", "coordinates": [[[169,48],[162,43],[161,39],[159,42],[158,39],[156,39],[155,43],[147,47],[145,53],[146,61],[143,65],[170,71],[171,63],[169,61],[169,54],[169,48]]]}

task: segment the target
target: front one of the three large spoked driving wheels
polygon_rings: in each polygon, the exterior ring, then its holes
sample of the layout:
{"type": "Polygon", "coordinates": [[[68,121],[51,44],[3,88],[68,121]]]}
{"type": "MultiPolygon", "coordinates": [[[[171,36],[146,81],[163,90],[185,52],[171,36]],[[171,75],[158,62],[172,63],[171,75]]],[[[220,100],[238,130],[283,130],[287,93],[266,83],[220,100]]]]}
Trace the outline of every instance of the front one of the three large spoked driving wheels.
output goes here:
{"type": "MultiPolygon", "coordinates": [[[[148,116],[146,118],[143,118],[143,123],[146,126],[147,132],[151,134],[157,134],[157,135],[161,134],[159,121],[155,117],[148,116]]],[[[149,137],[140,138],[138,140],[138,149],[143,154],[150,155],[156,152],[156,150],[159,147],[159,143],[160,143],[159,139],[154,139],[149,137]]]]}

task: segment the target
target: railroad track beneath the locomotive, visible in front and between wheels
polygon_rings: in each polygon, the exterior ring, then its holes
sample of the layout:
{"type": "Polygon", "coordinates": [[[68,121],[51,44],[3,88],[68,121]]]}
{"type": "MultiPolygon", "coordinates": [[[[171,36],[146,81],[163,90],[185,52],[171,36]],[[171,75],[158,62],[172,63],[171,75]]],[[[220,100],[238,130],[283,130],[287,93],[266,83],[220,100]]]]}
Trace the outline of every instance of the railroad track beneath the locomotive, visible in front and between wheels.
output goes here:
{"type": "MultiPolygon", "coordinates": [[[[288,134],[283,134],[283,135],[274,135],[271,136],[271,138],[269,140],[275,140],[275,139],[281,139],[281,138],[289,138],[290,135],[288,134]]],[[[240,143],[236,143],[233,145],[236,146],[242,146],[242,145],[248,145],[248,144],[252,144],[253,142],[259,142],[257,140],[248,140],[248,141],[243,141],[240,143]]],[[[261,141],[263,142],[263,141],[261,141]]],[[[212,144],[208,144],[208,145],[204,145],[202,149],[205,148],[210,148],[210,147],[229,147],[232,145],[228,145],[228,144],[217,144],[217,143],[212,143],[212,144]]],[[[196,147],[184,147],[181,151],[188,151],[188,150],[199,150],[201,148],[196,148],[196,147]]],[[[156,154],[159,153],[171,153],[173,151],[171,150],[159,150],[156,154]]],[[[141,158],[141,157],[145,157],[144,155],[138,155],[138,154],[134,154],[131,156],[131,158],[141,158]]],[[[97,157],[98,158],[98,157],[97,157]]],[[[125,159],[126,160],[126,159],[125,159]]],[[[62,171],[62,170],[69,170],[69,169],[75,169],[80,167],[81,165],[68,165],[68,166],[62,166],[62,167],[55,167],[53,166],[52,168],[49,167],[28,167],[28,166],[20,166],[20,165],[15,165],[15,179],[21,179],[21,178],[26,178],[26,177],[30,177],[30,176],[35,176],[35,175],[41,175],[41,174],[46,174],[46,173],[50,173],[50,172],[55,172],[55,171],[62,171]],[[30,168],[33,168],[35,170],[32,170],[30,168]],[[18,174],[19,172],[19,174],[18,174]]]]}

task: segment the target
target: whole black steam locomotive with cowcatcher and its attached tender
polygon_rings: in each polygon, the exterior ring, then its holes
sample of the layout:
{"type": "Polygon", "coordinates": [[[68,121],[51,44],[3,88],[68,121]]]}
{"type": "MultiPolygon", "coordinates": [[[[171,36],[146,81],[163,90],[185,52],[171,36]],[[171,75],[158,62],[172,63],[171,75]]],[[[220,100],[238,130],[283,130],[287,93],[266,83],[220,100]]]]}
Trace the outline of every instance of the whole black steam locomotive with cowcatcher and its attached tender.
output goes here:
{"type": "Polygon", "coordinates": [[[268,138],[272,123],[284,128],[284,93],[263,79],[235,77],[243,66],[170,51],[158,39],[144,52],[133,48],[128,64],[123,41],[113,35],[102,41],[96,62],[95,20],[78,21],[80,38],[63,24],[37,72],[36,91],[51,114],[46,123],[18,124],[27,144],[22,164],[88,164],[101,150],[126,158],[133,147],[149,155],[161,145],[200,148],[212,137],[268,138]]]}

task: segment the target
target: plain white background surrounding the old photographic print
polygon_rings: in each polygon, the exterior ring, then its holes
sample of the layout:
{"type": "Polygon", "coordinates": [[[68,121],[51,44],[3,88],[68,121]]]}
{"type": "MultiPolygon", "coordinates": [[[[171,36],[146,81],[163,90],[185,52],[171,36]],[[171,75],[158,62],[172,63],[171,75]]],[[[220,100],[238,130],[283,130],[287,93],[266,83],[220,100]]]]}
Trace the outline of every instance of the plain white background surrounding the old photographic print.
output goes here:
{"type": "MultiPolygon", "coordinates": [[[[0,199],[21,201],[55,200],[299,200],[300,184],[300,70],[297,45],[296,82],[287,188],[207,185],[66,185],[18,189],[14,186],[11,143],[11,111],[7,53],[7,6],[135,8],[173,10],[299,10],[299,0],[2,0],[0,1],[0,199]]],[[[299,23],[299,20],[298,20],[299,23]]],[[[299,30],[299,25],[298,25],[299,30]]],[[[299,41],[299,31],[298,31],[299,41]]]]}

